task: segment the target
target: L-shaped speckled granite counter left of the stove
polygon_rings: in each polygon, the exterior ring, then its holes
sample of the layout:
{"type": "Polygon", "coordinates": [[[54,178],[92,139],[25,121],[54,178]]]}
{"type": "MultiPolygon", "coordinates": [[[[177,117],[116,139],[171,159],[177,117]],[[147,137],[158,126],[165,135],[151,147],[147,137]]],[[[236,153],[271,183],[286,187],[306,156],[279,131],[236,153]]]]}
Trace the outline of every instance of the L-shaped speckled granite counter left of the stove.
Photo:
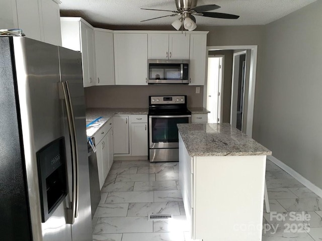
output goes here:
{"type": "Polygon", "coordinates": [[[100,118],[97,122],[86,128],[88,137],[93,137],[100,128],[116,114],[147,114],[148,108],[88,108],[86,109],[86,125],[100,118]]]}

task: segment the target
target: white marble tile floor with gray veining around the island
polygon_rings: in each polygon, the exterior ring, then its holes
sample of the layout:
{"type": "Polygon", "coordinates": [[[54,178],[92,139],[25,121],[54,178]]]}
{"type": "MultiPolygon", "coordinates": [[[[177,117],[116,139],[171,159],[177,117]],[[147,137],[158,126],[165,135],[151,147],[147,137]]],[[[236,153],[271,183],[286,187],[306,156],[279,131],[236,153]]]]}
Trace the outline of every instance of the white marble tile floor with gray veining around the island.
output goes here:
{"type": "MultiPolygon", "coordinates": [[[[114,162],[93,218],[93,241],[190,241],[178,173],[178,162],[114,162]],[[150,213],[174,217],[152,221],[150,213]]],[[[264,206],[262,240],[321,241],[322,198],[270,161],[266,181],[271,213],[264,206]]]]}

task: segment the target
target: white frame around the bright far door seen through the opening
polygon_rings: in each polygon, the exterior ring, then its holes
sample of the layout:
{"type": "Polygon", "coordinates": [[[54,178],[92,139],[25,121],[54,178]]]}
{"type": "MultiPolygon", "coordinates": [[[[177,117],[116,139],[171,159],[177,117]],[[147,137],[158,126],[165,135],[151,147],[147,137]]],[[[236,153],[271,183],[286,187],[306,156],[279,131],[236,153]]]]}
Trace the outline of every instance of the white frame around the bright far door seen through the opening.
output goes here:
{"type": "Polygon", "coordinates": [[[208,58],[209,57],[217,57],[217,58],[222,58],[222,61],[221,61],[221,78],[219,79],[219,87],[220,89],[218,89],[218,92],[220,93],[220,100],[219,100],[219,106],[218,106],[218,109],[217,109],[217,113],[218,113],[218,116],[217,118],[219,118],[219,122],[218,123],[222,123],[222,113],[223,113],[223,105],[222,105],[222,102],[223,102],[223,78],[224,78],[224,70],[225,70],[225,56],[223,54],[207,54],[207,61],[206,61],[206,66],[207,66],[207,70],[206,70],[206,84],[205,84],[205,89],[206,89],[206,102],[205,102],[205,108],[207,108],[207,96],[208,96],[208,93],[207,93],[207,85],[208,85],[208,58]]]}

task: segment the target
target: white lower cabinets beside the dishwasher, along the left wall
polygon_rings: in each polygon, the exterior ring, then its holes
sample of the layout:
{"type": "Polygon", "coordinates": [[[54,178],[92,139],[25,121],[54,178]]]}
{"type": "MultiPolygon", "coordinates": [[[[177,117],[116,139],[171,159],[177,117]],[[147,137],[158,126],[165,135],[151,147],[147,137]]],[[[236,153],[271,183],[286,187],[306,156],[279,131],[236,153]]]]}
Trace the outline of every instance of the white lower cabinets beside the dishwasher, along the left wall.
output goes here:
{"type": "Polygon", "coordinates": [[[113,164],[113,128],[112,119],[94,136],[96,143],[97,168],[99,171],[100,189],[113,164]]]}

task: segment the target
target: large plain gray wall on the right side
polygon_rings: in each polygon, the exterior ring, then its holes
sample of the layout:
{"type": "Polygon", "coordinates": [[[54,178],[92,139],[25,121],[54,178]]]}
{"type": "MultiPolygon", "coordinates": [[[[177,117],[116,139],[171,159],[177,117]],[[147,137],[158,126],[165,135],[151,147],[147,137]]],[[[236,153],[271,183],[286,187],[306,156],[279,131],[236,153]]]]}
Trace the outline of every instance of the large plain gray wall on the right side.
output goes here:
{"type": "Polygon", "coordinates": [[[253,137],[322,188],[322,1],[265,27],[253,137]]]}

